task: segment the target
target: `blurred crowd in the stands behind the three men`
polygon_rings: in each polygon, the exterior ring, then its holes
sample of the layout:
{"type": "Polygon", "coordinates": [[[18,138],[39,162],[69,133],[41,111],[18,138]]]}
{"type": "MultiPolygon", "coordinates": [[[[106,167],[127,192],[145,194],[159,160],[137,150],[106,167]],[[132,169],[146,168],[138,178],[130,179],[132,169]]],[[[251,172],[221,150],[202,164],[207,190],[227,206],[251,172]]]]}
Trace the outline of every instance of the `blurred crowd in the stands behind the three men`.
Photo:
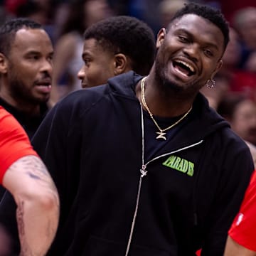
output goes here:
{"type": "MultiPolygon", "coordinates": [[[[81,88],[82,34],[92,23],[117,15],[135,16],[153,29],[166,27],[171,16],[189,0],[6,0],[0,1],[1,20],[28,17],[43,24],[55,48],[53,89],[55,104],[81,88]]],[[[256,145],[256,1],[194,1],[215,6],[230,23],[230,43],[216,85],[203,87],[210,105],[243,139],[256,145]]]]}

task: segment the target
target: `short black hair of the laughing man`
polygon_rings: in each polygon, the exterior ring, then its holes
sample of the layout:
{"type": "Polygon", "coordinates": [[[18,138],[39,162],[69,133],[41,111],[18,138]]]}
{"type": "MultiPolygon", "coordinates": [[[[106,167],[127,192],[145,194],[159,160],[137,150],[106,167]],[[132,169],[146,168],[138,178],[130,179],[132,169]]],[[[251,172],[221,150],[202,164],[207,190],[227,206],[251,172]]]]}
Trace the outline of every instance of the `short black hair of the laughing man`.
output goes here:
{"type": "Polygon", "coordinates": [[[215,26],[218,26],[218,28],[220,28],[220,31],[223,33],[224,50],[225,50],[230,40],[229,24],[219,9],[215,9],[212,6],[196,4],[196,3],[185,4],[184,7],[178,10],[176,14],[174,14],[174,16],[171,18],[171,21],[169,22],[169,26],[171,23],[173,23],[174,20],[186,14],[196,14],[197,16],[201,16],[202,18],[207,19],[208,21],[213,23],[215,26]]]}

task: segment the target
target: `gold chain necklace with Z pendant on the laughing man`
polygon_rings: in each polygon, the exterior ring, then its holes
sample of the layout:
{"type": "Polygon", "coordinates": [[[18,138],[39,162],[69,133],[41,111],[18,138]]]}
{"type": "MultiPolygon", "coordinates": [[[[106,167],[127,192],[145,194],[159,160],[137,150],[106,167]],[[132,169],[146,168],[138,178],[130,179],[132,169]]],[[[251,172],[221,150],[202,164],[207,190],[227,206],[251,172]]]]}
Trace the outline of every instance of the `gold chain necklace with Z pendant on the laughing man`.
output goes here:
{"type": "Polygon", "coordinates": [[[149,115],[150,115],[152,121],[154,122],[154,124],[156,124],[157,129],[159,129],[159,132],[156,132],[156,134],[158,134],[156,139],[166,140],[166,137],[164,136],[166,134],[166,131],[171,129],[172,127],[174,127],[179,122],[181,122],[189,114],[189,112],[191,112],[192,107],[185,114],[183,114],[183,116],[180,119],[178,119],[178,121],[176,121],[174,124],[171,124],[167,128],[161,129],[159,127],[159,124],[157,124],[156,120],[154,119],[153,114],[149,110],[149,106],[146,104],[146,100],[145,100],[145,80],[146,80],[146,77],[142,78],[142,83],[141,83],[141,87],[142,87],[142,105],[146,108],[146,111],[149,112],[149,115]]]}

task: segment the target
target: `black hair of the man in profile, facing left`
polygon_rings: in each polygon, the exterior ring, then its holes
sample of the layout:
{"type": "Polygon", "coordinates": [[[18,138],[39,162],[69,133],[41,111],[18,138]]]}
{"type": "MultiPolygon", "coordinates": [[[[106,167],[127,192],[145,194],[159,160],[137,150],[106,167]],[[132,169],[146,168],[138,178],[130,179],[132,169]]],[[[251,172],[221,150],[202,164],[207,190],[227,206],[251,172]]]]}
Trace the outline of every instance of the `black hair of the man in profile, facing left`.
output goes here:
{"type": "Polygon", "coordinates": [[[110,52],[123,53],[132,60],[132,70],[147,75],[154,63],[156,43],[152,29],[131,16],[112,16],[99,21],[84,33],[85,40],[94,38],[110,52]]]}

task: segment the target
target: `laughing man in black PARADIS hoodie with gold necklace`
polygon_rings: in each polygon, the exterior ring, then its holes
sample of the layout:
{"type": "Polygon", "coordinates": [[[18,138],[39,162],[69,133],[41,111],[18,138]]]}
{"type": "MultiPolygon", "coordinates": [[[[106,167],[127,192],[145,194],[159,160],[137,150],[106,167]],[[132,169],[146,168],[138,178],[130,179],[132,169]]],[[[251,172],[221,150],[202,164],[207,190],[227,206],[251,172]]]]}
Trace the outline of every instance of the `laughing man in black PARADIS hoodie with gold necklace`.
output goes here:
{"type": "Polygon", "coordinates": [[[32,142],[60,194],[48,255],[223,255],[254,169],[199,92],[228,40],[220,11],[188,4],[159,31],[147,77],[117,75],[50,110],[32,142]]]}

